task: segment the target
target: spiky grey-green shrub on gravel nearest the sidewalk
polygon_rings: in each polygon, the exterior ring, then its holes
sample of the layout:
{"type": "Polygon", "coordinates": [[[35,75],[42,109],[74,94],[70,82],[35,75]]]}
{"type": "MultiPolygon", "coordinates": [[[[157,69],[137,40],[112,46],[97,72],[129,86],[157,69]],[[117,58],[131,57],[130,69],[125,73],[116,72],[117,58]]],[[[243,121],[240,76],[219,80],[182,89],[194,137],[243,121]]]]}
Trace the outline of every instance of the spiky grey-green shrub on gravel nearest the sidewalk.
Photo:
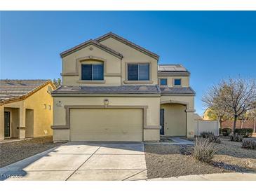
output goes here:
{"type": "Polygon", "coordinates": [[[208,139],[197,137],[193,155],[197,160],[209,162],[219,149],[220,145],[209,142],[208,139]]]}

